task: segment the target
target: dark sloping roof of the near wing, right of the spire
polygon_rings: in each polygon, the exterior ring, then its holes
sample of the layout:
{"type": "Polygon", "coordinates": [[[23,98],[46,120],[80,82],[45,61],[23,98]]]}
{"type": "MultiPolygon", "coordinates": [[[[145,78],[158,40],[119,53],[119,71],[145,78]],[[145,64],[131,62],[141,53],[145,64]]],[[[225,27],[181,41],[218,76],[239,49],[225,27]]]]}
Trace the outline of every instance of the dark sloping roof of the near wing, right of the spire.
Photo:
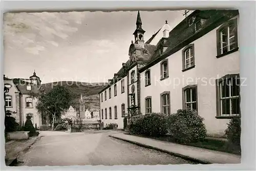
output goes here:
{"type": "Polygon", "coordinates": [[[172,31],[169,33],[167,41],[164,43],[164,46],[167,47],[167,50],[160,55],[155,53],[152,57],[152,61],[146,66],[140,69],[140,72],[146,70],[147,68],[155,65],[164,58],[174,54],[179,51],[182,47],[185,47],[187,44],[195,41],[196,39],[207,34],[211,30],[220,26],[223,22],[231,19],[232,17],[238,15],[238,10],[196,10],[186,19],[183,19],[172,31]],[[195,20],[193,25],[188,26],[187,20],[191,17],[194,17],[195,20]],[[197,21],[202,21],[202,29],[195,31],[195,23],[197,21]]]}

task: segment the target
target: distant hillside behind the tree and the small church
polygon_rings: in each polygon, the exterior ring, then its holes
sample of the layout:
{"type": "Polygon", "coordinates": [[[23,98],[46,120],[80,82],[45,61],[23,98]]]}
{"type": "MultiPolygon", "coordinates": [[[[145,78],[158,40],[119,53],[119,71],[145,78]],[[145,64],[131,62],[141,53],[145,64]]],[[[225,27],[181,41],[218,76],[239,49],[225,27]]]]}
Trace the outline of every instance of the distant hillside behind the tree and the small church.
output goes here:
{"type": "Polygon", "coordinates": [[[53,86],[64,86],[75,95],[73,100],[73,107],[79,110],[79,100],[82,93],[85,100],[86,107],[99,110],[99,95],[98,93],[106,86],[107,83],[84,83],[84,82],[72,82],[72,81],[60,81],[42,84],[44,88],[51,89],[53,86]]]}

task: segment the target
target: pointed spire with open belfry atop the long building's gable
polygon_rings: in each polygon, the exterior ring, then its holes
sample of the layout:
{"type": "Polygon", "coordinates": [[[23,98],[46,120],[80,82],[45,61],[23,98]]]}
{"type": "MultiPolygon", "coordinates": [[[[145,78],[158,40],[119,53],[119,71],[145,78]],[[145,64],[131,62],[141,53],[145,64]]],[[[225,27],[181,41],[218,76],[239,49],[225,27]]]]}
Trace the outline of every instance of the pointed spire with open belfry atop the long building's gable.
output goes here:
{"type": "Polygon", "coordinates": [[[139,45],[140,48],[144,48],[144,33],[142,29],[142,22],[140,18],[140,11],[138,11],[137,20],[136,20],[136,30],[133,33],[135,38],[135,43],[139,45]]]}

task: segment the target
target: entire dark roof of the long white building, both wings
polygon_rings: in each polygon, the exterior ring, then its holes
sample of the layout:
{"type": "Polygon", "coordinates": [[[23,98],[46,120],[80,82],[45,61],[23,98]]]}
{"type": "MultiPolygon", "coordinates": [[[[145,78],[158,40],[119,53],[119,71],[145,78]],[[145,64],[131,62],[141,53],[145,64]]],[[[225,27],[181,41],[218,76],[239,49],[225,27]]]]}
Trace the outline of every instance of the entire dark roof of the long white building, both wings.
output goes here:
{"type": "MultiPolygon", "coordinates": [[[[150,42],[158,34],[154,34],[148,41],[146,41],[145,48],[140,48],[138,44],[132,43],[134,48],[138,51],[141,51],[140,56],[138,57],[139,62],[144,62],[146,65],[142,67],[139,71],[142,72],[147,68],[155,65],[164,58],[172,55],[173,53],[179,51],[182,47],[185,47],[187,44],[195,41],[196,39],[207,34],[209,31],[220,26],[223,22],[231,19],[232,17],[238,15],[238,10],[195,10],[193,13],[183,19],[172,31],[169,32],[168,38],[162,38],[157,45],[152,45],[150,42]],[[187,20],[194,17],[193,25],[188,26],[187,20]],[[197,21],[202,21],[202,29],[195,31],[195,23],[197,21]],[[167,47],[166,51],[160,55],[159,51],[161,47],[167,47]],[[148,55],[144,55],[143,51],[146,50],[148,55]]],[[[130,50],[129,50],[130,51],[130,50]]],[[[129,54],[131,55],[131,54],[129,54]]],[[[131,59],[127,60],[126,65],[131,64],[131,59]]],[[[125,68],[121,67],[117,72],[118,78],[123,78],[125,74],[125,68]]],[[[116,80],[112,80],[111,84],[102,89],[99,93],[103,92],[105,89],[109,88],[116,80]]]]}

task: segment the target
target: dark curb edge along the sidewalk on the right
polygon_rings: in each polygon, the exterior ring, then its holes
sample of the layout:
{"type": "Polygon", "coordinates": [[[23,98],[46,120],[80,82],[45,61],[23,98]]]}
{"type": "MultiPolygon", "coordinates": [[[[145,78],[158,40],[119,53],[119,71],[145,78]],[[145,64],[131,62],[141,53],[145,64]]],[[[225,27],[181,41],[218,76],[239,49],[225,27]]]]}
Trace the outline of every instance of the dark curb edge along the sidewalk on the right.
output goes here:
{"type": "Polygon", "coordinates": [[[167,153],[169,155],[180,157],[182,159],[189,160],[191,162],[196,162],[196,163],[199,163],[199,164],[212,164],[211,162],[208,162],[208,161],[196,159],[196,158],[189,157],[189,156],[184,156],[184,155],[181,155],[181,154],[178,154],[178,153],[173,153],[173,152],[170,152],[170,151],[167,151],[167,150],[159,149],[159,148],[156,148],[154,146],[142,144],[142,143],[139,143],[139,142],[136,142],[136,141],[127,140],[127,139],[115,137],[115,136],[112,136],[112,135],[109,135],[109,137],[116,138],[116,139],[119,139],[119,140],[123,140],[123,141],[126,141],[126,142],[130,142],[130,143],[142,146],[142,147],[147,148],[147,149],[153,149],[153,150],[156,150],[156,151],[159,151],[159,152],[162,152],[162,153],[167,153]]]}

